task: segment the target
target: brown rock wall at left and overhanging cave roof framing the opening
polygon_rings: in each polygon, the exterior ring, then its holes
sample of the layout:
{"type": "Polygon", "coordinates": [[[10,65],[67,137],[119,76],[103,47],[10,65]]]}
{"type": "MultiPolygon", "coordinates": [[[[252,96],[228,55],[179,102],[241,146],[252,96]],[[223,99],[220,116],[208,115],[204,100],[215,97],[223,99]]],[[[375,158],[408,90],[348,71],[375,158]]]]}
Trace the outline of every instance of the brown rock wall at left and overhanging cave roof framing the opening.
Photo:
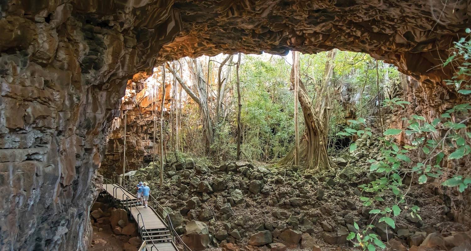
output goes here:
{"type": "MultiPolygon", "coordinates": [[[[416,113],[449,101],[437,68],[471,26],[466,0],[2,0],[0,245],[88,250],[110,123],[135,73],[181,57],[370,54],[417,80],[416,113]]],[[[468,214],[466,214],[469,217],[468,214]]],[[[464,216],[466,218],[466,216],[464,216]]],[[[468,218],[469,223],[469,218],[468,218]]]]}

